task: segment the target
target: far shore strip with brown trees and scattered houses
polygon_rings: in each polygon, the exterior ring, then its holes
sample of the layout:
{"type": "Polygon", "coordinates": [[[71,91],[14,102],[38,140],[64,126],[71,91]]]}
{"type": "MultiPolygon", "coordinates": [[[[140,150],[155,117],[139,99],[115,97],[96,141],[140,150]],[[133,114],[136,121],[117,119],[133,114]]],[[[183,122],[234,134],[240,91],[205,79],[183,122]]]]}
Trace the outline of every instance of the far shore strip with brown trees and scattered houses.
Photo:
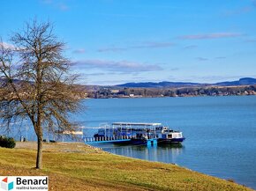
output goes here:
{"type": "Polygon", "coordinates": [[[109,87],[87,89],[81,98],[155,98],[155,97],[197,97],[197,96],[243,96],[256,95],[256,85],[235,86],[189,86],[189,87],[109,87]]]}

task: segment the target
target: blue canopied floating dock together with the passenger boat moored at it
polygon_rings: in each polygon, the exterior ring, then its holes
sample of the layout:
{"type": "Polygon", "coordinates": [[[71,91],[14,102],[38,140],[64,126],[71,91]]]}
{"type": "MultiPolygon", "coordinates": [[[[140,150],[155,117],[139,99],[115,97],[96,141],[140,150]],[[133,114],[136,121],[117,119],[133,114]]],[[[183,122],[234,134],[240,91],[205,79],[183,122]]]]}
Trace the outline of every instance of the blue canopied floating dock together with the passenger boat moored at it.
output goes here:
{"type": "Polygon", "coordinates": [[[132,145],[154,145],[157,143],[181,143],[182,133],[168,129],[161,123],[114,122],[104,124],[94,137],[85,137],[85,143],[127,143],[132,145]]]}

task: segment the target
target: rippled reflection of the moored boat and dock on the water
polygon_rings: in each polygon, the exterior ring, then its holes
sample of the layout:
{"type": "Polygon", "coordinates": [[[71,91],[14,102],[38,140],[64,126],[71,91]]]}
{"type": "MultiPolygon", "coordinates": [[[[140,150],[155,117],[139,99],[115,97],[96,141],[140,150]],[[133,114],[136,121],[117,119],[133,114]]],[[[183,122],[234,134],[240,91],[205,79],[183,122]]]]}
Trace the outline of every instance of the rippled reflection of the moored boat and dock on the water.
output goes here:
{"type": "Polygon", "coordinates": [[[165,163],[176,163],[177,158],[184,151],[184,146],[182,144],[159,144],[154,146],[98,144],[95,146],[101,147],[103,151],[109,151],[117,155],[151,161],[161,161],[165,163]]]}

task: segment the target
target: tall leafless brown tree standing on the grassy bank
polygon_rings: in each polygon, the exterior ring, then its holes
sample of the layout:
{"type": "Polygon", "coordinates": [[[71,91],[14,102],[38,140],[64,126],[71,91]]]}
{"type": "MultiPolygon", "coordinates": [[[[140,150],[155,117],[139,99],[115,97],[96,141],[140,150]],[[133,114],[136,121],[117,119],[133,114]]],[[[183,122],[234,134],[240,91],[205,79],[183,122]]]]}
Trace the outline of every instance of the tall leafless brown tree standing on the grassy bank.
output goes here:
{"type": "Polygon", "coordinates": [[[74,130],[69,114],[80,107],[75,75],[64,43],[52,26],[34,20],[14,33],[11,46],[0,41],[0,119],[31,121],[37,136],[36,168],[42,167],[43,130],[74,130]]]}

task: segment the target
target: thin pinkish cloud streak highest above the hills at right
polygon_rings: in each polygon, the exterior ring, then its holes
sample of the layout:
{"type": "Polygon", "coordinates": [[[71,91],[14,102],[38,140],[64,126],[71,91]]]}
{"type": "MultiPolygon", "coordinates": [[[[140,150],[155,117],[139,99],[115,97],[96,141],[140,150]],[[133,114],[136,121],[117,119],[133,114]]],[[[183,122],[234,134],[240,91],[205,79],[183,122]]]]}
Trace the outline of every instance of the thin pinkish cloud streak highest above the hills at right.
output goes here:
{"type": "Polygon", "coordinates": [[[222,39],[222,38],[234,38],[242,36],[242,33],[204,33],[204,34],[191,34],[179,36],[181,40],[207,40],[207,39],[222,39]]]}

